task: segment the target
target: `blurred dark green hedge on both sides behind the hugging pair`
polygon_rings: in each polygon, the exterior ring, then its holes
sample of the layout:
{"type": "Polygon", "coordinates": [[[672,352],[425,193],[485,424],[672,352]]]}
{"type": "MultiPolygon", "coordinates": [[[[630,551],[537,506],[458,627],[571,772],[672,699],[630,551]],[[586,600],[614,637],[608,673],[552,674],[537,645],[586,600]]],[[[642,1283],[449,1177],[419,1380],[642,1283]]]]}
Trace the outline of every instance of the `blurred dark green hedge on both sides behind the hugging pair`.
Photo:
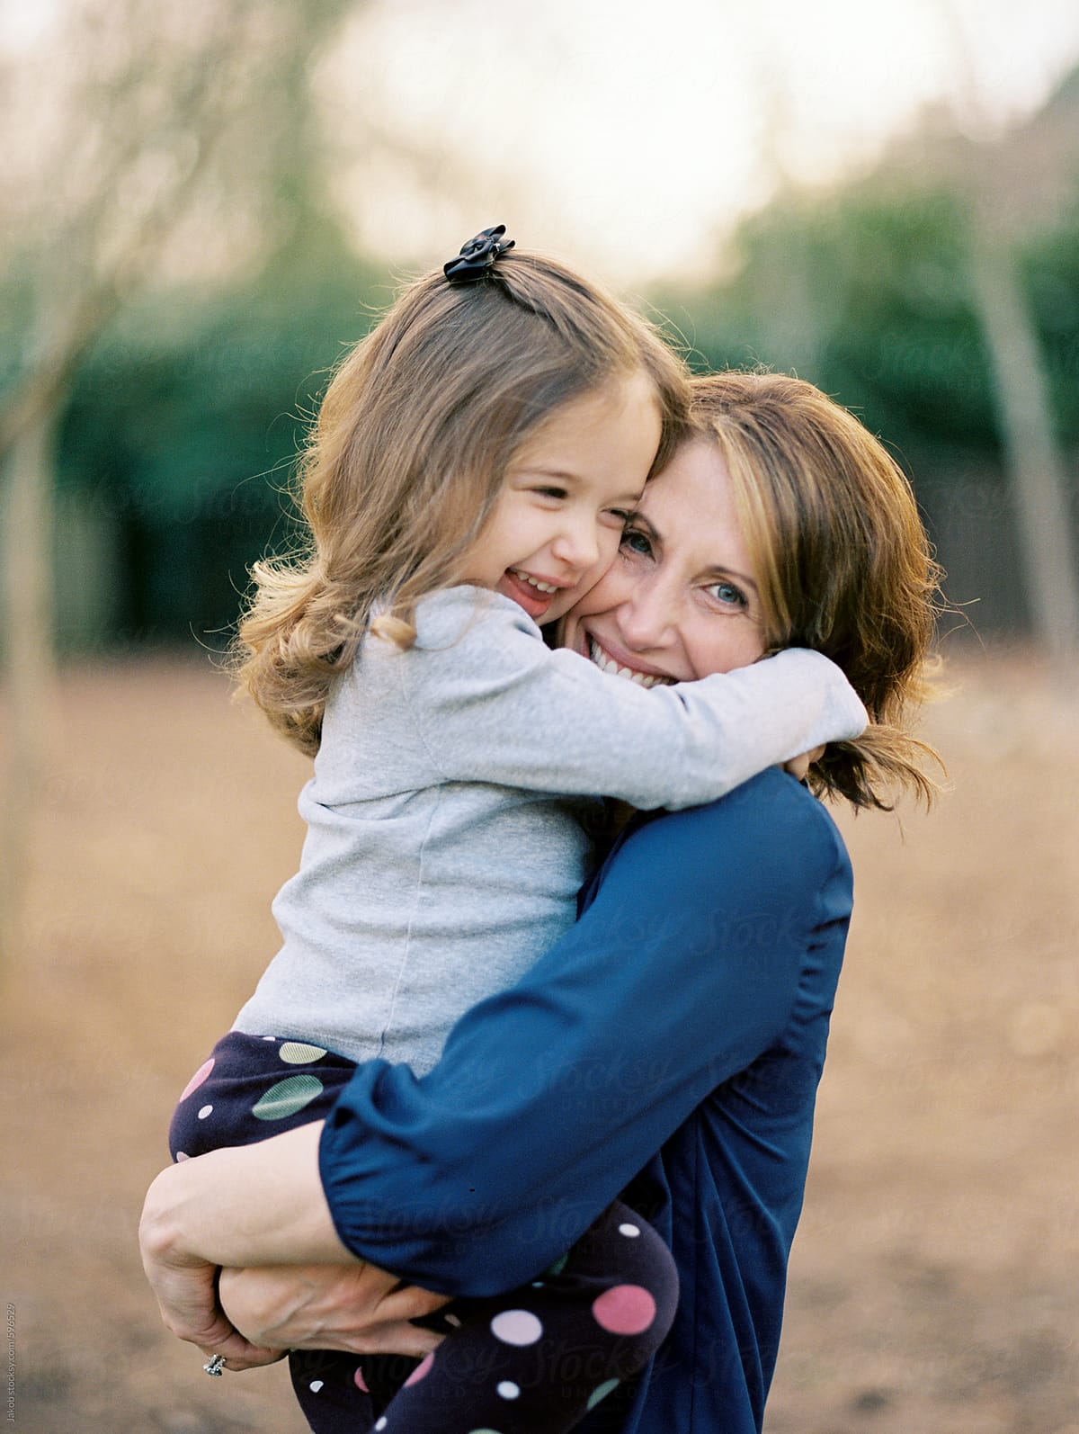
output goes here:
{"type": "MultiPolygon", "coordinates": [[[[1075,79],[1055,98],[1075,116],[1075,79]]],[[[1079,146],[1076,146],[1079,149],[1079,146]]],[[[1060,440],[1079,442],[1079,166],[1069,204],[1017,247],[1060,440]]],[[[125,305],[72,374],[59,417],[62,648],[219,642],[245,569],[294,538],[294,459],[328,371],[391,291],[332,215],[216,288],[125,305]]],[[[764,363],[818,383],[913,475],[953,601],[983,635],[1030,627],[1004,483],[992,366],[972,297],[970,211],[956,186],[887,166],[825,194],[790,191],[745,219],[725,277],[651,295],[702,367],[764,363]]],[[[7,285],[4,351],[29,288],[7,285]]],[[[14,341],[13,341],[14,340],[14,341]]]]}

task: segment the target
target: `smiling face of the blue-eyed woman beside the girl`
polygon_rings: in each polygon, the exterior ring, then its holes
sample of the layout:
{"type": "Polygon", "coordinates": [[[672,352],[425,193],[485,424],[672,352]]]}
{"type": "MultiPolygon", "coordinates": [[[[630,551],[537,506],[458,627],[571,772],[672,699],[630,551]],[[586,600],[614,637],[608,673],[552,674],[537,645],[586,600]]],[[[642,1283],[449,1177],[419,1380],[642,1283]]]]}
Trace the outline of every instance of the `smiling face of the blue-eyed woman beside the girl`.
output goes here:
{"type": "Polygon", "coordinates": [[[645,687],[762,657],[754,565],[718,450],[685,443],[638,513],[613,566],[563,619],[562,645],[645,687]]]}

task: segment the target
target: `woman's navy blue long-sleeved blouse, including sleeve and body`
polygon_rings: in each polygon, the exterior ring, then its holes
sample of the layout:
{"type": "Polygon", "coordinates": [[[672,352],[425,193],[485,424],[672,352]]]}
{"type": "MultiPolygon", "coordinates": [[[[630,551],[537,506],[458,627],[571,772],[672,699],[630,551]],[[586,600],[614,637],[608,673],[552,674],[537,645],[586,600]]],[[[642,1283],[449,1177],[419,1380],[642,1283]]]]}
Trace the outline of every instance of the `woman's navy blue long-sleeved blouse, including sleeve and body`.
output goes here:
{"type": "Polygon", "coordinates": [[[576,926],[417,1078],[370,1061],[320,1166],[344,1243],[454,1295],[534,1278],[623,1190],[679,1312],[588,1434],[757,1434],[851,911],[825,809],[771,769],[630,830],[576,926]]]}

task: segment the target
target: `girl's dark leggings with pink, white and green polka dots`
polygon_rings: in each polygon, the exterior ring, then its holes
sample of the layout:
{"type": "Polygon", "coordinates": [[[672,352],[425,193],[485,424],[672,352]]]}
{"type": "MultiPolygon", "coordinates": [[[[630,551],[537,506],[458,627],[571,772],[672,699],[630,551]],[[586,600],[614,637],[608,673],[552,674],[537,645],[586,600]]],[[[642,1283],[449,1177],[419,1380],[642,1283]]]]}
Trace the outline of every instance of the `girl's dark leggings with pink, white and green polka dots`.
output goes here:
{"type": "MultiPolygon", "coordinates": [[[[172,1156],[321,1120],[354,1070],[314,1045],[232,1031],[181,1097],[172,1156]]],[[[559,1434],[648,1364],[676,1301],[671,1252],[616,1202],[534,1281],[424,1321],[446,1329],[426,1359],[295,1351],[292,1387],[315,1434],[559,1434]]]]}

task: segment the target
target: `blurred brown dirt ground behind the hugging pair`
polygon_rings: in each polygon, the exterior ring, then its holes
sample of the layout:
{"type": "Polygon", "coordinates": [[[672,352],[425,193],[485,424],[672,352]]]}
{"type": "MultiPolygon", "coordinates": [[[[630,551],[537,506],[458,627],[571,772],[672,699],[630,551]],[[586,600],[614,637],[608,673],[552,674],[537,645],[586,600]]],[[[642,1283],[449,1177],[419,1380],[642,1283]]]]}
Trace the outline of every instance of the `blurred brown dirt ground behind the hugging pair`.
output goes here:
{"type": "MultiPolygon", "coordinates": [[[[951,675],[953,793],[841,817],[857,913],[768,1434],[1079,1434],[1079,704],[1022,652],[951,675]]],[[[1,1017],[14,1427],[301,1434],[281,1367],[211,1381],[163,1332],[136,1223],[275,949],[307,764],[188,661],[69,673],[56,751],[1,1017]]]]}

